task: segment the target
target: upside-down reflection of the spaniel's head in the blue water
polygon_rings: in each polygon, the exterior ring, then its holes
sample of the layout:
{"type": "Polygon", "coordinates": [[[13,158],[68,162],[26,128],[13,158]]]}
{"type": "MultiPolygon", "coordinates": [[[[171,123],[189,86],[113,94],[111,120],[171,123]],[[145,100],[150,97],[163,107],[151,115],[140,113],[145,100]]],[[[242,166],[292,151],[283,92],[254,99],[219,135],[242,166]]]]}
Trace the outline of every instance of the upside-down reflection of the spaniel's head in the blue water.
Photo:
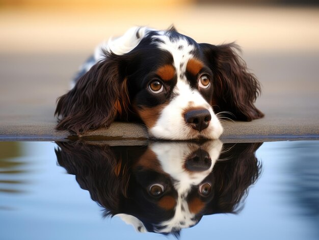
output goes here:
{"type": "Polygon", "coordinates": [[[236,212],[259,176],[261,144],[60,142],[58,163],[82,189],[139,232],[179,234],[203,215],[236,212]]]}

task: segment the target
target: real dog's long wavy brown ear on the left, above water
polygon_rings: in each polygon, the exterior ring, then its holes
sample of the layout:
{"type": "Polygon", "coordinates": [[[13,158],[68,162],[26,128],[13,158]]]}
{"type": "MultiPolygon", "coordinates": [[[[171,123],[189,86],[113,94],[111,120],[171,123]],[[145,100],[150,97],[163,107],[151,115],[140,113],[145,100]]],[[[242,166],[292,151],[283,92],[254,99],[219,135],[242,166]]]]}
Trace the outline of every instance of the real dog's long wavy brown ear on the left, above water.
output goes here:
{"type": "Polygon", "coordinates": [[[81,134],[109,127],[118,115],[127,113],[127,78],[120,57],[109,55],[92,66],[72,90],[58,99],[55,115],[61,118],[57,129],[81,134]]]}

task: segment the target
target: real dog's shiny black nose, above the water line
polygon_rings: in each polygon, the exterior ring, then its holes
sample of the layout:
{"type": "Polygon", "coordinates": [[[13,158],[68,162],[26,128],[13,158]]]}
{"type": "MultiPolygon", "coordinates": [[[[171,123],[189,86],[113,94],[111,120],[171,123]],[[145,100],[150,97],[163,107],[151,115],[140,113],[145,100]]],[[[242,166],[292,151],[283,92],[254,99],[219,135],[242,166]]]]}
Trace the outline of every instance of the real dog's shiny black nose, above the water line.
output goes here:
{"type": "Polygon", "coordinates": [[[208,127],[211,120],[210,113],[207,109],[193,109],[185,113],[185,121],[194,129],[201,131],[208,127]]]}

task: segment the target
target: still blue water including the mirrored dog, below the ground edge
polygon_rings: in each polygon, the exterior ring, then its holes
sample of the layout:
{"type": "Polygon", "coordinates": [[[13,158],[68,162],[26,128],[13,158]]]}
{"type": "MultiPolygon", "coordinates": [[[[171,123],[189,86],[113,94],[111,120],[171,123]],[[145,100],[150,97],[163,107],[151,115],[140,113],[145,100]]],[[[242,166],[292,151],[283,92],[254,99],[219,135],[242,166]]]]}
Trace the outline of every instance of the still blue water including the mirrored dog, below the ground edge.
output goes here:
{"type": "Polygon", "coordinates": [[[319,239],[319,141],[0,142],[0,222],[6,240],[319,239]]]}

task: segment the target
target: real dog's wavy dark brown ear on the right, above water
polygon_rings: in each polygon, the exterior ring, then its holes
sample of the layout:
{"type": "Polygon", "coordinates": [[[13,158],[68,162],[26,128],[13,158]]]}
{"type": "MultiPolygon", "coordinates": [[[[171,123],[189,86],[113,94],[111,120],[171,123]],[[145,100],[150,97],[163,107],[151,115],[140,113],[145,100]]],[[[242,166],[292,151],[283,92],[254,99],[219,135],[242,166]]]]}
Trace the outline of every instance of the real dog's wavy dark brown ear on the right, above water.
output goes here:
{"type": "Polygon", "coordinates": [[[260,94],[260,84],[249,73],[246,63],[238,56],[240,48],[234,44],[200,44],[214,74],[213,108],[216,112],[227,111],[235,120],[251,121],[263,117],[254,106],[260,94]]]}

